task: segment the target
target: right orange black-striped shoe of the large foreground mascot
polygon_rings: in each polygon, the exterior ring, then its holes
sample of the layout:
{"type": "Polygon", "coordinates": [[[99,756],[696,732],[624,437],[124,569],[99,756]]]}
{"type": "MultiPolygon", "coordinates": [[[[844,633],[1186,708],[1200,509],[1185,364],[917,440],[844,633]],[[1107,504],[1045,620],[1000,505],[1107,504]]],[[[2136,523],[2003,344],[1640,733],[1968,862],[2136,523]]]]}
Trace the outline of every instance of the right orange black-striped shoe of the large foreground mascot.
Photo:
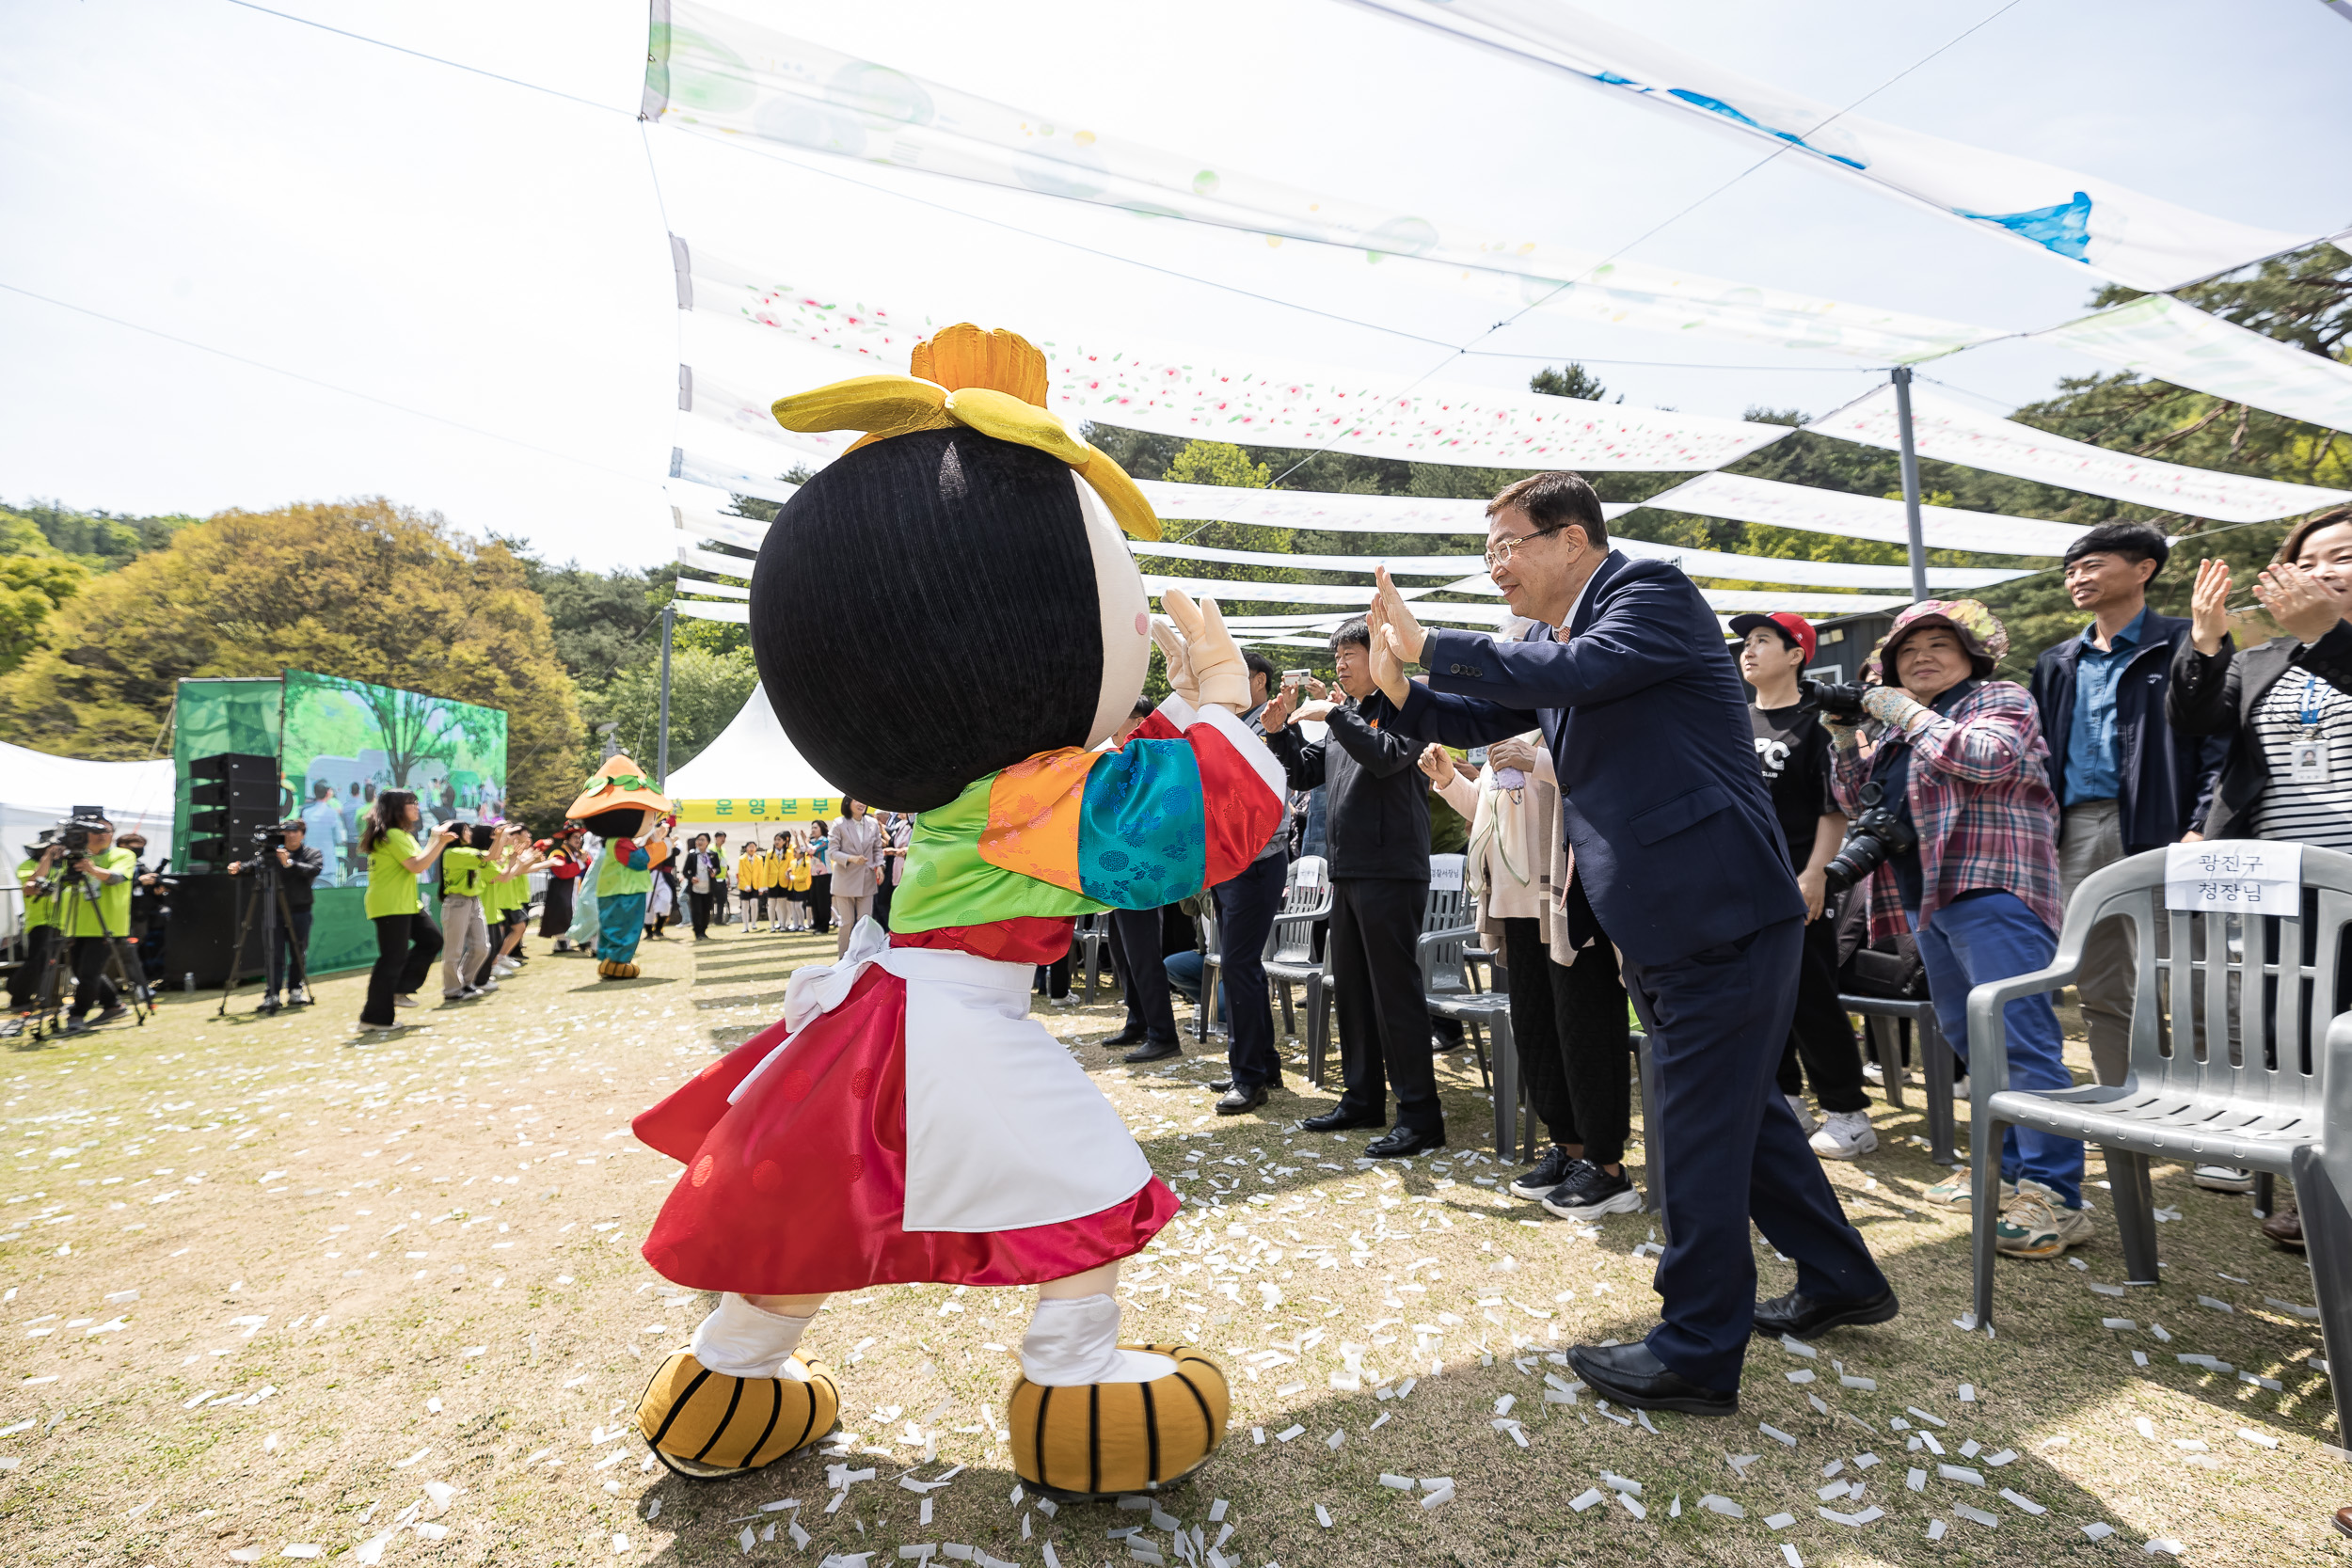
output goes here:
{"type": "Polygon", "coordinates": [[[1148,1382],[1014,1382],[1014,1474],[1049,1495],[1087,1500],[1174,1486],[1216,1453],[1230,1408],[1216,1361],[1195,1345],[1120,1349],[1167,1356],[1174,1368],[1148,1382]]]}

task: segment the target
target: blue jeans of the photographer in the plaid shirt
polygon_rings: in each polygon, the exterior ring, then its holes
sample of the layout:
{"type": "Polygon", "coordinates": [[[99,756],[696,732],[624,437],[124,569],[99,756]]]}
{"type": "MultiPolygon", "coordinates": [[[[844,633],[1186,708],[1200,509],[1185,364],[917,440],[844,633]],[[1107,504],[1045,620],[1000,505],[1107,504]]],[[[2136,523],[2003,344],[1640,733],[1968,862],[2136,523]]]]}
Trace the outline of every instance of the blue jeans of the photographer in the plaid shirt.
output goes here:
{"type": "MultiPolygon", "coordinates": [[[[2058,954],[2058,938],[2016,893],[1978,891],[1936,910],[1919,931],[1919,957],[1926,961],[1926,994],[1936,1004],[1936,1023],[1952,1041],[1959,1060],[1969,1060],[1969,990],[1987,980],[2046,969],[2058,954]]],[[[2009,1086],[2072,1088],[2065,1067],[2065,1034],[2046,994],[2023,997],[2002,1009],[2009,1020],[2009,1086]]],[[[2032,1128],[2002,1128],[2002,1180],[2034,1180],[2058,1194],[2067,1208],[2082,1208],[2082,1138],[2058,1138],[2032,1128]]]]}

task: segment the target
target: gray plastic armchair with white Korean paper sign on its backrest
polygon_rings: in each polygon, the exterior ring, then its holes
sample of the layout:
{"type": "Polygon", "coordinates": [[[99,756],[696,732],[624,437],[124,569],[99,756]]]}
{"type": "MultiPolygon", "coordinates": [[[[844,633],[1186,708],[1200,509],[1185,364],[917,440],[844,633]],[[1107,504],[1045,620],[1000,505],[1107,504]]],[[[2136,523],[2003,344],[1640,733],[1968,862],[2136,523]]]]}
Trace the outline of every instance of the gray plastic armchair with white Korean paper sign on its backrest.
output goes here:
{"type": "MultiPolygon", "coordinates": [[[[2161,1286],[2150,1159],[2293,1180],[2328,1366],[2352,1354],[2352,1013],[2336,1011],[2352,856],[2303,849],[2303,907],[2317,907],[2317,922],[2164,910],[2164,851],[2152,849],[2074,891],[2049,969],[1969,992],[1980,1326],[1992,1324],[2002,1128],[2030,1126],[2105,1152],[2136,1286],[2161,1286]],[[2002,1009],[2072,985],[2084,938],[2110,917],[2129,919],[2140,947],[2124,1084],[2009,1088],[2002,1009]],[[2169,938],[2161,959],[2159,926],[2169,938]]],[[[2338,1429],[2352,1429],[2352,1389],[2343,1378],[2333,1387],[2338,1429]]]]}

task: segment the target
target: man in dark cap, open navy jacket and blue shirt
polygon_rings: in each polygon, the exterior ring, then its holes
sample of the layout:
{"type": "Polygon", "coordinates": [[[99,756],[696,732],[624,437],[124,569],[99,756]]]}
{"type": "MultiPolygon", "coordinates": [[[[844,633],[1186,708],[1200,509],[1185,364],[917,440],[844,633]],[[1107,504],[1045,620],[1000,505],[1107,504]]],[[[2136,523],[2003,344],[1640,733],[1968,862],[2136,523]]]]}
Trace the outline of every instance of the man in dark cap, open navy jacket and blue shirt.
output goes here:
{"type": "MultiPolygon", "coordinates": [[[[2065,552],[2067,597],[2091,625],[2042,651],[2032,693],[2063,809],[2058,875],[2067,900],[2103,865],[2192,832],[2230,755],[2227,736],[2176,733],[2164,717],[2173,654],[2190,635],[2185,618],[2147,607],[2147,583],[2169,555],[2164,534],[2145,522],[2100,524],[2065,552]]],[[[2122,1084],[2131,1065],[2136,973],[2131,922],[2093,929],[2074,994],[2100,1084],[2122,1084]]]]}

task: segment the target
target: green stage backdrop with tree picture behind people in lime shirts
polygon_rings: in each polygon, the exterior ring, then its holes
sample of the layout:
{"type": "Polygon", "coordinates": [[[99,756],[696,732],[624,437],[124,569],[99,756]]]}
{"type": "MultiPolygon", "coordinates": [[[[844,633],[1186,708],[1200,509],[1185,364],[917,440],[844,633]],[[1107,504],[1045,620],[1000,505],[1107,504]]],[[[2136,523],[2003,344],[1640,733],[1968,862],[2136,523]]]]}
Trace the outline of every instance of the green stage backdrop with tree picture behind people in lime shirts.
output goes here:
{"type": "MultiPolygon", "coordinates": [[[[310,924],[315,973],[376,961],[360,825],[379,790],[414,790],[426,830],[506,813],[506,712],[499,708],[287,670],[278,750],[287,811],[301,813],[310,844],[327,858],[310,924]]],[[[437,889],[428,889],[426,907],[440,919],[437,889]]]]}

